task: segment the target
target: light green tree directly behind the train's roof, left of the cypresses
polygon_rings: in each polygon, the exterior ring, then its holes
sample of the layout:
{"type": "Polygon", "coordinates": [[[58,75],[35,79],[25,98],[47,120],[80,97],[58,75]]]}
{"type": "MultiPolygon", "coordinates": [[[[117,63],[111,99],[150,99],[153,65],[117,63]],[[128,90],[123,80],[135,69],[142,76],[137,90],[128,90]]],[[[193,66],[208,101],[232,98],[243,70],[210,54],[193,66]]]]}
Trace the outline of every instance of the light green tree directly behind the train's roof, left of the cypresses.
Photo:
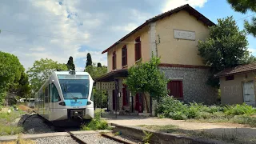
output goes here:
{"type": "Polygon", "coordinates": [[[48,58],[41,58],[39,61],[35,61],[33,67],[27,71],[32,90],[38,91],[50,74],[58,69],[67,70],[66,64],[58,63],[48,58]]]}

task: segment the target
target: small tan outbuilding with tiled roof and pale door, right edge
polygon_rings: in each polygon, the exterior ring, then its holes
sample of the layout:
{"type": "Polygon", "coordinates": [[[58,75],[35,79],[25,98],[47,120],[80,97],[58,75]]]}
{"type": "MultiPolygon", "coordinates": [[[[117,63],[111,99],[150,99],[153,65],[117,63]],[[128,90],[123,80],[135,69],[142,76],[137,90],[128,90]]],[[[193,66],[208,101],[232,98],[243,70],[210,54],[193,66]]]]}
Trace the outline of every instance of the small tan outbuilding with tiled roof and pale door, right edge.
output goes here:
{"type": "Polygon", "coordinates": [[[247,105],[256,106],[256,63],[222,70],[215,76],[220,79],[222,104],[245,102],[247,105]]]}

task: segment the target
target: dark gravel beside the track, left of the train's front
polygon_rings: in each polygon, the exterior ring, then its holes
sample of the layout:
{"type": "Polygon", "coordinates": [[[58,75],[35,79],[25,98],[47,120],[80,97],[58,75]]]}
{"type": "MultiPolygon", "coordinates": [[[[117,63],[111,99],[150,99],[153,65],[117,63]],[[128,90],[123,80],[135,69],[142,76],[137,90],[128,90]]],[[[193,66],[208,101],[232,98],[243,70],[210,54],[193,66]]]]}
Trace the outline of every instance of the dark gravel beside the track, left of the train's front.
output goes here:
{"type": "Polygon", "coordinates": [[[23,115],[22,119],[26,119],[26,122],[23,124],[24,133],[25,134],[42,134],[42,133],[50,133],[54,132],[50,127],[44,122],[44,120],[38,115],[32,115],[28,118],[30,114],[23,115]]]}

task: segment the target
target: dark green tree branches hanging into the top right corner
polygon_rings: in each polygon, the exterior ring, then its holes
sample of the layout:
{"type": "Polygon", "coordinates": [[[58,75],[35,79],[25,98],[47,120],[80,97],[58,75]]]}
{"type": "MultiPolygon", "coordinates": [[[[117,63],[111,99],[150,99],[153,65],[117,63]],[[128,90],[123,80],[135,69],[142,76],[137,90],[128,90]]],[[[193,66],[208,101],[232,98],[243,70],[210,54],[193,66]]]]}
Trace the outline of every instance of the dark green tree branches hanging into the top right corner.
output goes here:
{"type": "MultiPolygon", "coordinates": [[[[256,12],[256,2],[254,0],[227,0],[235,11],[246,14],[251,10],[256,12]]],[[[245,21],[246,31],[256,37],[256,18],[252,18],[252,22],[245,21]]]]}

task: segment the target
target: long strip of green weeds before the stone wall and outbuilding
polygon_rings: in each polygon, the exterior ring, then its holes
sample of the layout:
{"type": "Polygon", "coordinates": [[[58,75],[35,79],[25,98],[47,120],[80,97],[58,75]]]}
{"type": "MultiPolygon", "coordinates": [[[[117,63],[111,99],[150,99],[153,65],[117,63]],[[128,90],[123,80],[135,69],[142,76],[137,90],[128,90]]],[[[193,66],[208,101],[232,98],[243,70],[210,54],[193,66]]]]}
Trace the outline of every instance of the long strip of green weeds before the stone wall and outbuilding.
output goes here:
{"type": "Polygon", "coordinates": [[[190,103],[189,105],[172,97],[162,98],[158,105],[158,118],[173,118],[175,120],[194,119],[201,122],[234,122],[256,126],[256,118],[250,115],[256,114],[252,106],[206,106],[202,103],[190,103]]]}

